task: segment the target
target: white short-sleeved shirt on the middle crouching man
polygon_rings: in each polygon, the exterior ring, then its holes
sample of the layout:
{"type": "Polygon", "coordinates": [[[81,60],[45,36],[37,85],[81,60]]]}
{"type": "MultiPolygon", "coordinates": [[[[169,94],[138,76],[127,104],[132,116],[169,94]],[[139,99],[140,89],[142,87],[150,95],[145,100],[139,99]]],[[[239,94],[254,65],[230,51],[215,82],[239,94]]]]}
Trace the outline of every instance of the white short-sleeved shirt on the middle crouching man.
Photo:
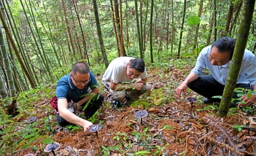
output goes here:
{"type": "MultiPolygon", "coordinates": [[[[105,74],[102,78],[102,83],[106,81],[112,81],[114,83],[122,83],[122,82],[130,82],[132,79],[126,74],[127,65],[131,61],[131,57],[120,57],[116,58],[109,64],[105,74]]],[[[140,75],[141,79],[145,79],[147,77],[146,68],[145,71],[140,75]]]]}

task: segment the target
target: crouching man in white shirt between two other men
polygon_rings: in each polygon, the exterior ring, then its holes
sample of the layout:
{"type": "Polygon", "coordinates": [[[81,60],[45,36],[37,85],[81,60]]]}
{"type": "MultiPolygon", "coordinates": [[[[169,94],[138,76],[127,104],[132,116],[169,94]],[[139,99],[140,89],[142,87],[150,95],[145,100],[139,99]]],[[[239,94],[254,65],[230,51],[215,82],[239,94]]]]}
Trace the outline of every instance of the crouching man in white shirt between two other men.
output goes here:
{"type": "Polygon", "coordinates": [[[151,89],[143,59],[120,57],[109,64],[102,83],[113,96],[112,107],[121,107],[120,101],[138,98],[151,89]]]}

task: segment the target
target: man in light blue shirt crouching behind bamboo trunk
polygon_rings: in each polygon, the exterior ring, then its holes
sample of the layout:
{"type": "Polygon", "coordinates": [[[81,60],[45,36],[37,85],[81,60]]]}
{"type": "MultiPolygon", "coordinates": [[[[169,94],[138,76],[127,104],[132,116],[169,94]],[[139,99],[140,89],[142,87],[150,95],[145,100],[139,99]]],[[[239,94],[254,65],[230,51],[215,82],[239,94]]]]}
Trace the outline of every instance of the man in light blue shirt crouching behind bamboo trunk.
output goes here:
{"type": "MultiPolygon", "coordinates": [[[[227,81],[228,71],[231,65],[236,40],[229,37],[223,37],[212,45],[205,47],[200,52],[196,61],[195,68],[186,77],[185,81],[176,89],[176,94],[185,95],[186,88],[190,88],[196,93],[203,95],[204,103],[220,102],[218,98],[212,98],[216,95],[222,95],[227,81]],[[208,68],[211,75],[203,75],[205,68],[208,68]]],[[[256,91],[256,57],[247,49],[244,50],[243,61],[237,78],[236,88],[244,88],[256,91]]],[[[234,92],[233,98],[238,98],[234,92]]],[[[239,106],[250,106],[256,102],[256,95],[247,98],[241,97],[246,104],[239,106]]],[[[236,106],[231,103],[230,107],[236,106]]]]}

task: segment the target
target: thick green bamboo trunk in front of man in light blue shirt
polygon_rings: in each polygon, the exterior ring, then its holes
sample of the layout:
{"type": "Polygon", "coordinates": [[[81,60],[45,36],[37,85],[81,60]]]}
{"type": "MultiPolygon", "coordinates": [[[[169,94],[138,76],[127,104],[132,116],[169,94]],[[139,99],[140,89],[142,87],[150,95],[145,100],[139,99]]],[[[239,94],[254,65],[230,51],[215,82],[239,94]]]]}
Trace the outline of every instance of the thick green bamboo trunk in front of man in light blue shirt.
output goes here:
{"type": "Polygon", "coordinates": [[[239,70],[243,61],[244,49],[246,47],[246,42],[249,36],[254,5],[255,0],[244,0],[242,9],[243,18],[241,18],[241,22],[239,24],[239,30],[236,38],[236,46],[234,49],[230,70],[228,72],[227,83],[225,85],[222,99],[220,102],[220,107],[217,112],[218,116],[221,117],[227,116],[234,89],[236,88],[237,77],[239,75],[239,70]]]}

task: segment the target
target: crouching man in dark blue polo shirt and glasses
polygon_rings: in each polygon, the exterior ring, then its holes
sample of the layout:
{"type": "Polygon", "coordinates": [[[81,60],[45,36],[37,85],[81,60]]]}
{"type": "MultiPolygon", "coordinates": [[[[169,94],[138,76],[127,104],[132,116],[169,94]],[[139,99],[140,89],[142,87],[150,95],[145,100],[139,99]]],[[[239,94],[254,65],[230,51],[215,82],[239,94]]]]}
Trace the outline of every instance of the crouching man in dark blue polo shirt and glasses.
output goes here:
{"type": "Polygon", "coordinates": [[[102,105],[104,97],[99,94],[97,80],[84,62],[75,63],[70,74],[63,76],[57,83],[58,98],[57,122],[60,126],[81,125],[89,132],[92,123],[72,113],[77,107],[84,107],[85,116],[92,116],[102,105]],[[90,90],[88,90],[90,88],[90,90]],[[72,101],[69,101],[72,100],[72,101]]]}

